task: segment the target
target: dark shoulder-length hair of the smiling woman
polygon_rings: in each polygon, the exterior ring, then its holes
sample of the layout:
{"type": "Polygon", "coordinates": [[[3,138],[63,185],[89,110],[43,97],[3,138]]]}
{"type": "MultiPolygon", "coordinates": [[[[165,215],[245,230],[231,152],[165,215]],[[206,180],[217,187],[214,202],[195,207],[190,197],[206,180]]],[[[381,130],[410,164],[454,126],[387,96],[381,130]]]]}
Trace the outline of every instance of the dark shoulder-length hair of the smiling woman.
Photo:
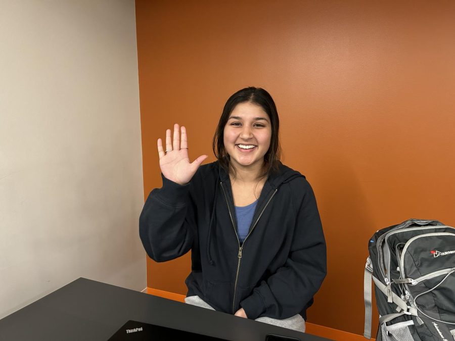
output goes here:
{"type": "Polygon", "coordinates": [[[268,115],[271,125],[270,147],[264,155],[264,165],[259,178],[267,176],[270,172],[278,170],[278,164],[281,157],[281,145],[279,138],[280,119],[278,118],[277,107],[270,94],[260,87],[246,87],[231,95],[224,105],[223,112],[219,118],[218,126],[212,141],[212,149],[218,162],[228,174],[234,169],[230,169],[230,156],[224,148],[224,126],[228,122],[234,108],[240,103],[252,103],[260,106],[268,115]]]}

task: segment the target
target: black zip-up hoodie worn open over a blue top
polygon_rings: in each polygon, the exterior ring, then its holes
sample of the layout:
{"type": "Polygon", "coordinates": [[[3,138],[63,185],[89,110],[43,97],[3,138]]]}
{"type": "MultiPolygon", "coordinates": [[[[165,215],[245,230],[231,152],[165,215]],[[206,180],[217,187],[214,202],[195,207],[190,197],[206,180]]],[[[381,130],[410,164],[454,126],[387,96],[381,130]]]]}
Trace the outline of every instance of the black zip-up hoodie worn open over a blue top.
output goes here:
{"type": "Polygon", "coordinates": [[[280,163],[266,180],[243,244],[228,174],[213,162],[190,183],[163,178],[139,220],[147,254],[164,262],[192,251],[187,296],[248,318],[285,319],[306,308],[326,275],[326,243],[311,186],[280,163]]]}

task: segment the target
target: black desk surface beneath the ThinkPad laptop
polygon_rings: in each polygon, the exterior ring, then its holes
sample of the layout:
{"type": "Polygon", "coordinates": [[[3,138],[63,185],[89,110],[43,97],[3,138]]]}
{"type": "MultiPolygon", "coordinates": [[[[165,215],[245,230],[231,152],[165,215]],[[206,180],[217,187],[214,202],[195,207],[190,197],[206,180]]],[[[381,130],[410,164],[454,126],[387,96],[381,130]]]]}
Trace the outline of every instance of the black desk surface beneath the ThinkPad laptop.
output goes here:
{"type": "Polygon", "coordinates": [[[85,278],[1,319],[0,340],[106,341],[128,320],[233,341],[263,341],[269,333],[327,340],[85,278]]]}

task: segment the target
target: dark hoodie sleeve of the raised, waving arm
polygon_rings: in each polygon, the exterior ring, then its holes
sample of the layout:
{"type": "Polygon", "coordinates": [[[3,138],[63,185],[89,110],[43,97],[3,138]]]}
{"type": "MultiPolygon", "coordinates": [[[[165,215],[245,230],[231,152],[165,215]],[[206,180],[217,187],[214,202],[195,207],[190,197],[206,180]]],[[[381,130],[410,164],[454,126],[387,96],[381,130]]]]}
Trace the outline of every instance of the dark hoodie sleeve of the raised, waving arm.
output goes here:
{"type": "Polygon", "coordinates": [[[139,218],[139,235],[144,248],[156,262],[186,254],[197,235],[192,182],[180,185],[162,174],[163,186],[153,189],[139,218]]]}

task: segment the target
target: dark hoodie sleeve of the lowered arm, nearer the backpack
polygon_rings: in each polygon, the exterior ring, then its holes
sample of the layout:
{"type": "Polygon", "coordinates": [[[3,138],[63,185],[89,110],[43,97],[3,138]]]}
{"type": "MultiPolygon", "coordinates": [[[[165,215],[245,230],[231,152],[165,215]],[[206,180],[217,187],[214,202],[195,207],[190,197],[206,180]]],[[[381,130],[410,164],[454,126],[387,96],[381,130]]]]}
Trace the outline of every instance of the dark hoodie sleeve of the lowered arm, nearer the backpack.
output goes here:
{"type": "Polygon", "coordinates": [[[301,178],[288,185],[296,211],[291,250],[284,266],[240,303],[250,319],[285,319],[302,312],[326,276],[326,242],[314,193],[301,178]]]}

